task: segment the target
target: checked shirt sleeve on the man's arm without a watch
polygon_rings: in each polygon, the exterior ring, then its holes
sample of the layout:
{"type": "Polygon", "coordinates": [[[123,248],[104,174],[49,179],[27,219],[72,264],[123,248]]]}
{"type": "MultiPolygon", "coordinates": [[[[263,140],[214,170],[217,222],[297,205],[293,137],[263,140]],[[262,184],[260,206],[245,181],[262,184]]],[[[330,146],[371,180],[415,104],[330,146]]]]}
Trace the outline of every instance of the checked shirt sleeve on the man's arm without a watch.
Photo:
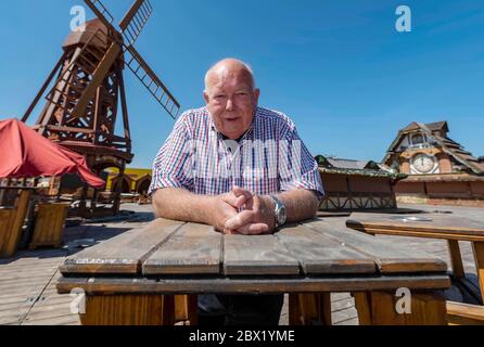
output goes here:
{"type": "Polygon", "coordinates": [[[182,115],[154,159],[150,195],[165,188],[193,190],[190,145],[182,115]]]}

